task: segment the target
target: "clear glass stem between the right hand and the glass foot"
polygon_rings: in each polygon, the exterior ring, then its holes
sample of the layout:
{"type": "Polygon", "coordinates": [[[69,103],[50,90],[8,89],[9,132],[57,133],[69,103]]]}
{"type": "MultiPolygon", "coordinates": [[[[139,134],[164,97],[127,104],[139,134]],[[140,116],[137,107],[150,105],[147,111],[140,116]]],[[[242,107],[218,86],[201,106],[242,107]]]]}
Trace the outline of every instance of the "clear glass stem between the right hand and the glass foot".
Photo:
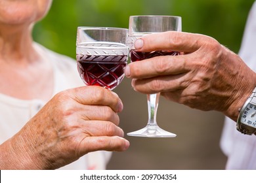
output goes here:
{"type": "Polygon", "coordinates": [[[148,99],[148,125],[156,124],[156,113],[158,111],[158,101],[160,93],[147,94],[148,99]]]}

